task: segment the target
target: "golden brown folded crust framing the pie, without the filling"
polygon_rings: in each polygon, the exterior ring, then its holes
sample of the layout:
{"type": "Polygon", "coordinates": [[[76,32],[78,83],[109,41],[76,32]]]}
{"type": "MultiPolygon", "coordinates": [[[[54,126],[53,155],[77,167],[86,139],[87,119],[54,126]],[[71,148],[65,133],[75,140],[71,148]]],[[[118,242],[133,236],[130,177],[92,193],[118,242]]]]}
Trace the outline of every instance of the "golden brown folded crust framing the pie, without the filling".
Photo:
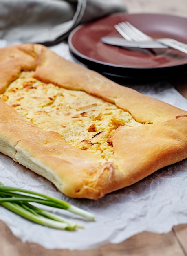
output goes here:
{"type": "Polygon", "coordinates": [[[101,198],[187,157],[186,111],[120,86],[42,45],[7,47],[0,56],[0,93],[22,70],[35,70],[40,81],[101,97],[144,123],[117,128],[108,141],[114,155],[105,161],[70,146],[56,132],[41,130],[0,100],[0,151],[66,195],[101,198]]]}

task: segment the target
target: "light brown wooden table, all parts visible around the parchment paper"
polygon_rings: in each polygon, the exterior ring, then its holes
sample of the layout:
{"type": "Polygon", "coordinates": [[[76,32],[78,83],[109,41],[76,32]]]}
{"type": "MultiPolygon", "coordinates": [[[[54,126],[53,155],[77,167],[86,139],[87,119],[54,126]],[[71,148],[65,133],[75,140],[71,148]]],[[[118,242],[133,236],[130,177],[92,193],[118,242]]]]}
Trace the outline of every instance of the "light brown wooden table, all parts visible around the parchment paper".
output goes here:
{"type": "MultiPolygon", "coordinates": [[[[165,13],[187,17],[187,0],[124,0],[128,13],[165,13]]],[[[187,99],[187,76],[172,81],[187,99]]],[[[0,221],[0,256],[187,256],[187,224],[167,234],[143,232],[123,243],[86,251],[47,250],[34,243],[22,243],[0,221]]]]}

